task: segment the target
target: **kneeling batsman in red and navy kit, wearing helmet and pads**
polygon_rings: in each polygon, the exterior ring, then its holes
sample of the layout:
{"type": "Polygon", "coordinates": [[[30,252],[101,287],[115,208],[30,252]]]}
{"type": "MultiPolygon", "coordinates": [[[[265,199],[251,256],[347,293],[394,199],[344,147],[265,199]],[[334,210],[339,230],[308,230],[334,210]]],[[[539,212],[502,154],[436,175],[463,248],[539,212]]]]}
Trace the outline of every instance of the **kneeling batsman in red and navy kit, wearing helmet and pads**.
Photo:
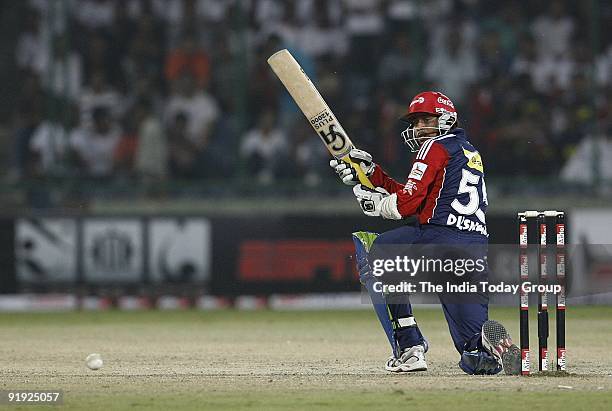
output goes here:
{"type": "MultiPolygon", "coordinates": [[[[384,232],[355,233],[357,268],[376,314],[392,346],[385,368],[391,372],[427,370],[427,340],[421,334],[408,295],[388,302],[372,286],[369,257],[384,245],[455,244],[484,250],[488,233],[485,220],[487,192],[483,164],[466,132],[459,128],[453,102],[444,94],[426,91],[416,95],[402,117],[407,128],[401,133],[412,152],[417,153],[405,183],[387,175],[362,150],[350,157],[368,176],[375,189],[359,184],[357,173],[348,164],[331,160],[344,184],[352,185],[363,212],[372,217],[399,220],[416,216],[415,226],[401,225],[384,232]]],[[[486,275],[486,273],[485,273],[486,275]]],[[[488,319],[485,301],[449,302],[440,298],[451,338],[457,349],[459,367],[467,374],[520,373],[520,350],[505,327],[488,319]]]]}

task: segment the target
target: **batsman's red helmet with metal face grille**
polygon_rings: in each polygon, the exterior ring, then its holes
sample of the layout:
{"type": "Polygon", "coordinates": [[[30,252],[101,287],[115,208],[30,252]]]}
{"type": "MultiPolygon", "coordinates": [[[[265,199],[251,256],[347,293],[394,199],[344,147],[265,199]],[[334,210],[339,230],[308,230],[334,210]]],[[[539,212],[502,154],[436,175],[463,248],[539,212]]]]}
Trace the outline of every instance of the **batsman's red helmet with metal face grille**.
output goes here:
{"type": "Polygon", "coordinates": [[[410,149],[415,152],[419,151],[425,140],[443,136],[457,123],[457,110],[450,98],[437,91],[424,91],[417,94],[410,105],[408,112],[403,120],[408,122],[408,128],[402,132],[402,137],[410,149]],[[438,117],[437,127],[419,127],[417,130],[424,128],[435,128],[438,131],[436,136],[417,136],[415,127],[412,122],[413,118],[418,114],[430,114],[438,117]]]}

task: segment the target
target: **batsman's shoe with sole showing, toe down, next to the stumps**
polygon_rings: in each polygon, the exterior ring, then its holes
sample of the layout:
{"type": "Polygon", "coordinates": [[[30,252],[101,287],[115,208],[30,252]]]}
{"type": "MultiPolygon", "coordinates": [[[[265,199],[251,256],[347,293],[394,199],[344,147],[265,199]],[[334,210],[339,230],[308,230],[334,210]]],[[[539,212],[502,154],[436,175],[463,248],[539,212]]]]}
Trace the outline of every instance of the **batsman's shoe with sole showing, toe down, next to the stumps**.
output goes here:
{"type": "Polygon", "coordinates": [[[512,342],[512,337],[502,324],[487,320],[482,325],[482,346],[504,368],[508,375],[521,372],[521,350],[512,342]]]}

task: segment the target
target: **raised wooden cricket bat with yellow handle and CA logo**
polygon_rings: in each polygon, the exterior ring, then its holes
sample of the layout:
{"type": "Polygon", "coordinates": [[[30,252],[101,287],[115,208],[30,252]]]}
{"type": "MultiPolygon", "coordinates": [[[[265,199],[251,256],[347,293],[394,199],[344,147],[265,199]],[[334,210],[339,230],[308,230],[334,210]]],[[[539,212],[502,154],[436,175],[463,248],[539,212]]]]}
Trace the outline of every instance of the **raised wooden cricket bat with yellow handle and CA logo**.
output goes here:
{"type": "Polygon", "coordinates": [[[361,184],[374,188],[359,164],[349,158],[349,152],[354,148],[353,142],[291,53],[287,49],[277,51],[270,56],[268,64],[302,110],[312,128],[321,137],[331,155],[350,164],[357,172],[361,184]]]}

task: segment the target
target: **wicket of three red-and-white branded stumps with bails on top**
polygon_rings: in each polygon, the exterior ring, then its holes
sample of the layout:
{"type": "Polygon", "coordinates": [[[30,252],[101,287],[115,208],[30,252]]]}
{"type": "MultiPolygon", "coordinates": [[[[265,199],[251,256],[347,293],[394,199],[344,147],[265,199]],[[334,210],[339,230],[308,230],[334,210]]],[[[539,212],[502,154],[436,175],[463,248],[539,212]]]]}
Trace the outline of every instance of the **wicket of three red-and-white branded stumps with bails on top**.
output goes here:
{"type": "MultiPolygon", "coordinates": [[[[528,257],[528,219],[535,218],[538,227],[539,241],[537,247],[538,258],[538,284],[548,282],[548,231],[547,219],[554,218],[556,234],[556,279],[561,286],[561,292],[556,298],[556,329],[557,329],[557,371],[566,371],[565,350],[565,213],[563,211],[524,211],[518,213],[519,235],[519,277],[520,291],[520,348],[521,348],[521,374],[530,373],[529,349],[529,295],[522,285],[529,281],[528,257]]],[[[549,370],[548,353],[548,293],[542,291],[538,294],[538,370],[549,370]]]]}

